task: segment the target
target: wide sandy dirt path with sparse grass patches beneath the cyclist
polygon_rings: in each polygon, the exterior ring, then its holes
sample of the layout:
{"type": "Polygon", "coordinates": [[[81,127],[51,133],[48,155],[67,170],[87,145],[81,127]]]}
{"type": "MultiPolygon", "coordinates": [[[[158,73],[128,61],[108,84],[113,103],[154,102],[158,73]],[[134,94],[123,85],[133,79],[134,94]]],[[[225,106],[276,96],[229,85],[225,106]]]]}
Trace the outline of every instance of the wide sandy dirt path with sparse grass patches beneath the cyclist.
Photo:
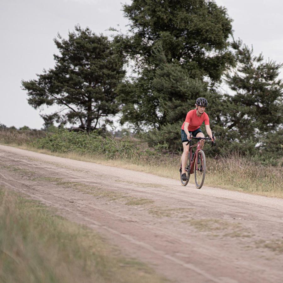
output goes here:
{"type": "Polygon", "coordinates": [[[283,200],[0,145],[0,185],[87,225],[173,282],[282,282],[283,200]]]}

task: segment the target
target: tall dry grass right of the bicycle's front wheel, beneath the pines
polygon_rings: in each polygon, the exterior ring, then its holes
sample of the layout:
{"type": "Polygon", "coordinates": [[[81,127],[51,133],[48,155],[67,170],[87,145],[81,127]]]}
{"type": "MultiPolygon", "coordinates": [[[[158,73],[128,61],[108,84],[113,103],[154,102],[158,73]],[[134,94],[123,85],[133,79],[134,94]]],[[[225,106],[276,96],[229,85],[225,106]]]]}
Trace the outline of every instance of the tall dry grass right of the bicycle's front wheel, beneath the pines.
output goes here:
{"type": "MultiPolygon", "coordinates": [[[[283,197],[283,168],[280,165],[262,165],[253,157],[239,151],[228,153],[219,160],[210,159],[207,180],[229,189],[283,197]]],[[[279,162],[280,164],[280,162],[279,162]]]]}

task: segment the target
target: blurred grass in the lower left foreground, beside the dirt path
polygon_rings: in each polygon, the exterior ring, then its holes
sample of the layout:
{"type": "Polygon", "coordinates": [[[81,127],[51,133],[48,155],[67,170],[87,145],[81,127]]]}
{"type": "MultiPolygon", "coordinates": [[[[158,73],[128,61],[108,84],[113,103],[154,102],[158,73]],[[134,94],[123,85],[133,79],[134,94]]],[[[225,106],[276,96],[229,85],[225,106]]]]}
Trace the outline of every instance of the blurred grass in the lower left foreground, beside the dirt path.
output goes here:
{"type": "Polygon", "coordinates": [[[168,282],[84,226],[0,187],[1,282],[168,282]]]}

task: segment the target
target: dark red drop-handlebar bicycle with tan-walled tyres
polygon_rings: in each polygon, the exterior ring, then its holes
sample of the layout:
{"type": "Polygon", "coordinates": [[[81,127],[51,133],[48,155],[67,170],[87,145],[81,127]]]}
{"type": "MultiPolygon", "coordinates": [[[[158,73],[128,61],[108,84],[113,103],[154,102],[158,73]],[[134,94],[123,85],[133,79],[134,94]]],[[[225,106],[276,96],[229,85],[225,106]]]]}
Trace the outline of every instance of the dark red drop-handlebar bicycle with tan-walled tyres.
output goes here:
{"type": "MultiPolygon", "coordinates": [[[[212,136],[214,139],[214,136],[212,136]]],[[[195,136],[191,136],[190,141],[188,141],[186,143],[186,145],[188,145],[190,143],[190,150],[189,150],[189,154],[188,154],[188,161],[186,164],[186,176],[187,176],[187,180],[183,181],[182,180],[182,159],[180,160],[180,179],[181,179],[181,184],[182,186],[186,186],[189,182],[190,179],[190,175],[192,173],[194,173],[195,176],[195,185],[197,189],[200,189],[203,186],[203,182],[204,182],[204,178],[205,178],[205,174],[206,174],[206,160],[205,160],[205,154],[203,152],[203,150],[201,149],[200,146],[200,140],[211,140],[211,138],[203,138],[203,137],[195,137],[195,136]],[[196,139],[198,140],[196,144],[191,145],[191,139],[196,139]],[[193,147],[197,147],[196,152],[193,156],[193,158],[191,158],[192,156],[192,148],[193,147]]],[[[212,142],[212,145],[214,145],[214,142],[212,142]]]]}

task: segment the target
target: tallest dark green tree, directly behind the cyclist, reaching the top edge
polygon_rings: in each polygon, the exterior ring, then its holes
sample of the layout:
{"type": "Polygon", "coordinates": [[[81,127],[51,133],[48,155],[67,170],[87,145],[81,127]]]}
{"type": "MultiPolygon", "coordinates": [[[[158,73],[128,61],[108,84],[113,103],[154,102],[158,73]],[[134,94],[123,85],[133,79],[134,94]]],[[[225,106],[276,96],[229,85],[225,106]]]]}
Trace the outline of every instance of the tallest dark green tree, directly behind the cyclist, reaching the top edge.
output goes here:
{"type": "Polygon", "coordinates": [[[234,62],[231,19],[225,8],[207,0],[134,0],[124,5],[124,13],[130,34],[116,41],[137,75],[120,86],[121,121],[136,130],[153,129],[147,135],[159,137],[153,144],[166,141],[174,149],[196,98],[205,96],[209,106],[218,105],[214,86],[234,62]]]}

